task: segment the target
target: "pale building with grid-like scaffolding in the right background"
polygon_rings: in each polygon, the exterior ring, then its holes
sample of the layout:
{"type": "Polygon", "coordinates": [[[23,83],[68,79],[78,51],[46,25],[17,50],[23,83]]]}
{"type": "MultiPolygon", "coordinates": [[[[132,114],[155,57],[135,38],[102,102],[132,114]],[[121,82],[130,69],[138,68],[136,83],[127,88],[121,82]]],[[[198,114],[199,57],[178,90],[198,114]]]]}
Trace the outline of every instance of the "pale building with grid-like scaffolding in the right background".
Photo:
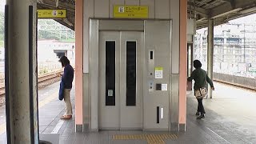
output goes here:
{"type": "MultiPolygon", "coordinates": [[[[214,27],[214,72],[256,77],[256,24],[230,22],[214,27]]],[[[207,70],[207,30],[195,36],[194,58],[207,70]]]]}

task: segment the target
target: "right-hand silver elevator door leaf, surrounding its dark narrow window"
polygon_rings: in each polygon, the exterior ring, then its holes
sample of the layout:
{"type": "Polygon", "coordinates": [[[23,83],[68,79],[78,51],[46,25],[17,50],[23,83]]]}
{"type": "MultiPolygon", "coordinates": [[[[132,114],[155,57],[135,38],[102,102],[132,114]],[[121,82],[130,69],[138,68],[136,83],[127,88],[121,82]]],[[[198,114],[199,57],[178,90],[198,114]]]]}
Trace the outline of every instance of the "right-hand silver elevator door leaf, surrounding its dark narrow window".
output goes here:
{"type": "Polygon", "coordinates": [[[142,130],[142,67],[143,67],[143,32],[121,32],[120,58],[120,128],[122,130],[142,130]],[[136,42],[136,105],[126,106],[126,41],[136,42]]]}

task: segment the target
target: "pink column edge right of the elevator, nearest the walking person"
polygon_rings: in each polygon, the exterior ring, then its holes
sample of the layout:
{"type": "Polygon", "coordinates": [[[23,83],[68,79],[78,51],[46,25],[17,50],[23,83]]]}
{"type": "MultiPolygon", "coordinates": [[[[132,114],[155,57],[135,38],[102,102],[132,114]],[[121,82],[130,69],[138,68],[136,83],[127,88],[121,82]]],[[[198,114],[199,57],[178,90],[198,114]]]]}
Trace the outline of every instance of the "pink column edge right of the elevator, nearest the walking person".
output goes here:
{"type": "Polygon", "coordinates": [[[186,124],[186,9],[187,1],[180,0],[179,124],[186,124]]]}

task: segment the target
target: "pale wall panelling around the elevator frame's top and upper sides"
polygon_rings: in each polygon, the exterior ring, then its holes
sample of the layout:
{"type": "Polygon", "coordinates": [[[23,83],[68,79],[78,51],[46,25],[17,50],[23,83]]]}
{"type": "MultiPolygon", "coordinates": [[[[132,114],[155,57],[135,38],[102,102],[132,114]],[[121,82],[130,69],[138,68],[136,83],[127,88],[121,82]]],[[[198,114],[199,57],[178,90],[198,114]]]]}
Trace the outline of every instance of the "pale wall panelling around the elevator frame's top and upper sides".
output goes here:
{"type": "Polygon", "coordinates": [[[179,67],[179,0],[84,0],[83,73],[89,73],[89,19],[113,18],[114,5],[149,6],[150,19],[172,19],[172,74],[179,67]]]}

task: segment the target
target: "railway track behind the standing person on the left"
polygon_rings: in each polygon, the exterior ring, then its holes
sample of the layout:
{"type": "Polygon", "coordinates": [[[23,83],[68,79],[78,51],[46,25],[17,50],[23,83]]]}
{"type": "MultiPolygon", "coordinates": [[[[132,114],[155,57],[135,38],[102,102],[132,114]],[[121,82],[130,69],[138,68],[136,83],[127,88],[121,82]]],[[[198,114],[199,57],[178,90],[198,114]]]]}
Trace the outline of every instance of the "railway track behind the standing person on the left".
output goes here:
{"type": "MultiPolygon", "coordinates": [[[[51,81],[55,78],[58,78],[59,74],[62,74],[63,70],[58,70],[52,73],[44,74],[40,77],[38,77],[38,89],[41,89],[43,86],[47,86],[51,81]]],[[[5,85],[0,84],[0,97],[5,95],[5,85]]]]}

